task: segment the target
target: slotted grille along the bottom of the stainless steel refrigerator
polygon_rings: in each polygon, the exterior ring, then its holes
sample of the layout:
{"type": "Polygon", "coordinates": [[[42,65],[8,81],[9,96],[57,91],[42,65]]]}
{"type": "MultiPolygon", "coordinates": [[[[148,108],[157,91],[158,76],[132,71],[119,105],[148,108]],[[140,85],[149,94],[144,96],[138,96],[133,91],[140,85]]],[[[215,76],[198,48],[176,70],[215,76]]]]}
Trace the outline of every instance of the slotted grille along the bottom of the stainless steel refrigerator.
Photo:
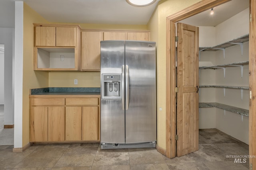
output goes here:
{"type": "Polygon", "coordinates": [[[127,143],[127,144],[113,144],[101,143],[101,149],[129,149],[129,148],[155,148],[156,142],[147,143],[127,143]]]}

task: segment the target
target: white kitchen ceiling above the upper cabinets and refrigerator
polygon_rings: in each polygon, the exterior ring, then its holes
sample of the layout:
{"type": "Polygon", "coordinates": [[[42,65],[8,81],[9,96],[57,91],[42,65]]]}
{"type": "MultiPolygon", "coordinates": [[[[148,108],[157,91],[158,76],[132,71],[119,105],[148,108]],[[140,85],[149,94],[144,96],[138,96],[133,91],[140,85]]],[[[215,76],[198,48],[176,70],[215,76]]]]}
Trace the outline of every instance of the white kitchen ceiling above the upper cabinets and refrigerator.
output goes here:
{"type": "Polygon", "coordinates": [[[49,22],[146,25],[156,8],[131,6],[126,0],[24,0],[49,22]]]}

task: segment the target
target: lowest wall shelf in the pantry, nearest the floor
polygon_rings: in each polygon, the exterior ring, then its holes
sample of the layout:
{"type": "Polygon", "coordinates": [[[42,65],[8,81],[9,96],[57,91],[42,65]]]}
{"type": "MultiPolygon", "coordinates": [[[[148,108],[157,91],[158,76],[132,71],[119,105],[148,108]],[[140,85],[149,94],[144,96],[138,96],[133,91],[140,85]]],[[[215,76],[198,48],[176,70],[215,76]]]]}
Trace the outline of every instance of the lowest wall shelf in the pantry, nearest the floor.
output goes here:
{"type": "Polygon", "coordinates": [[[237,114],[244,115],[247,117],[249,116],[249,110],[247,110],[247,109],[242,109],[242,108],[234,107],[234,106],[228,106],[226,104],[220,104],[220,103],[215,103],[215,102],[199,103],[199,107],[217,107],[217,108],[231,111],[233,113],[237,113],[237,114]]]}

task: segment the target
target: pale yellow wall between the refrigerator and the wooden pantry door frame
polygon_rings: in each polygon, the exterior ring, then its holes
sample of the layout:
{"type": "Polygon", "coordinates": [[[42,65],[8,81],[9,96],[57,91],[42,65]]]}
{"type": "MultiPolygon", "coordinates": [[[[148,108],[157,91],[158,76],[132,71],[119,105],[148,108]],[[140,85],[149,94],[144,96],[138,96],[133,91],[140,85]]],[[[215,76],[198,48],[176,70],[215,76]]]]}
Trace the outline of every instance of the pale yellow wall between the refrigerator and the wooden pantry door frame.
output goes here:
{"type": "Polygon", "coordinates": [[[148,22],[151,41],[156,41],[157,145],[166,150],[166,17],[200,0],[161,0],[148,22]]]}

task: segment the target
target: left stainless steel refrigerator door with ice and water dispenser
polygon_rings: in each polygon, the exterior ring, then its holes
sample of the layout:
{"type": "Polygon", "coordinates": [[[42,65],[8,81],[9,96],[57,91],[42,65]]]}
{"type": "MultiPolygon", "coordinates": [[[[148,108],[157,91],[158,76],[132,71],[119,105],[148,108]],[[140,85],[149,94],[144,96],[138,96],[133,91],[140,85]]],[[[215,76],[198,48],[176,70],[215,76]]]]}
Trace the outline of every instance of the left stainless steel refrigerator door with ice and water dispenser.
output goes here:
{"type": "Polygon", "coordinates": [[[124,41],[101,41],[101,143],[125,143],[124,41]],[[122,69],[123,68],[123,69],[122,69]]]}

